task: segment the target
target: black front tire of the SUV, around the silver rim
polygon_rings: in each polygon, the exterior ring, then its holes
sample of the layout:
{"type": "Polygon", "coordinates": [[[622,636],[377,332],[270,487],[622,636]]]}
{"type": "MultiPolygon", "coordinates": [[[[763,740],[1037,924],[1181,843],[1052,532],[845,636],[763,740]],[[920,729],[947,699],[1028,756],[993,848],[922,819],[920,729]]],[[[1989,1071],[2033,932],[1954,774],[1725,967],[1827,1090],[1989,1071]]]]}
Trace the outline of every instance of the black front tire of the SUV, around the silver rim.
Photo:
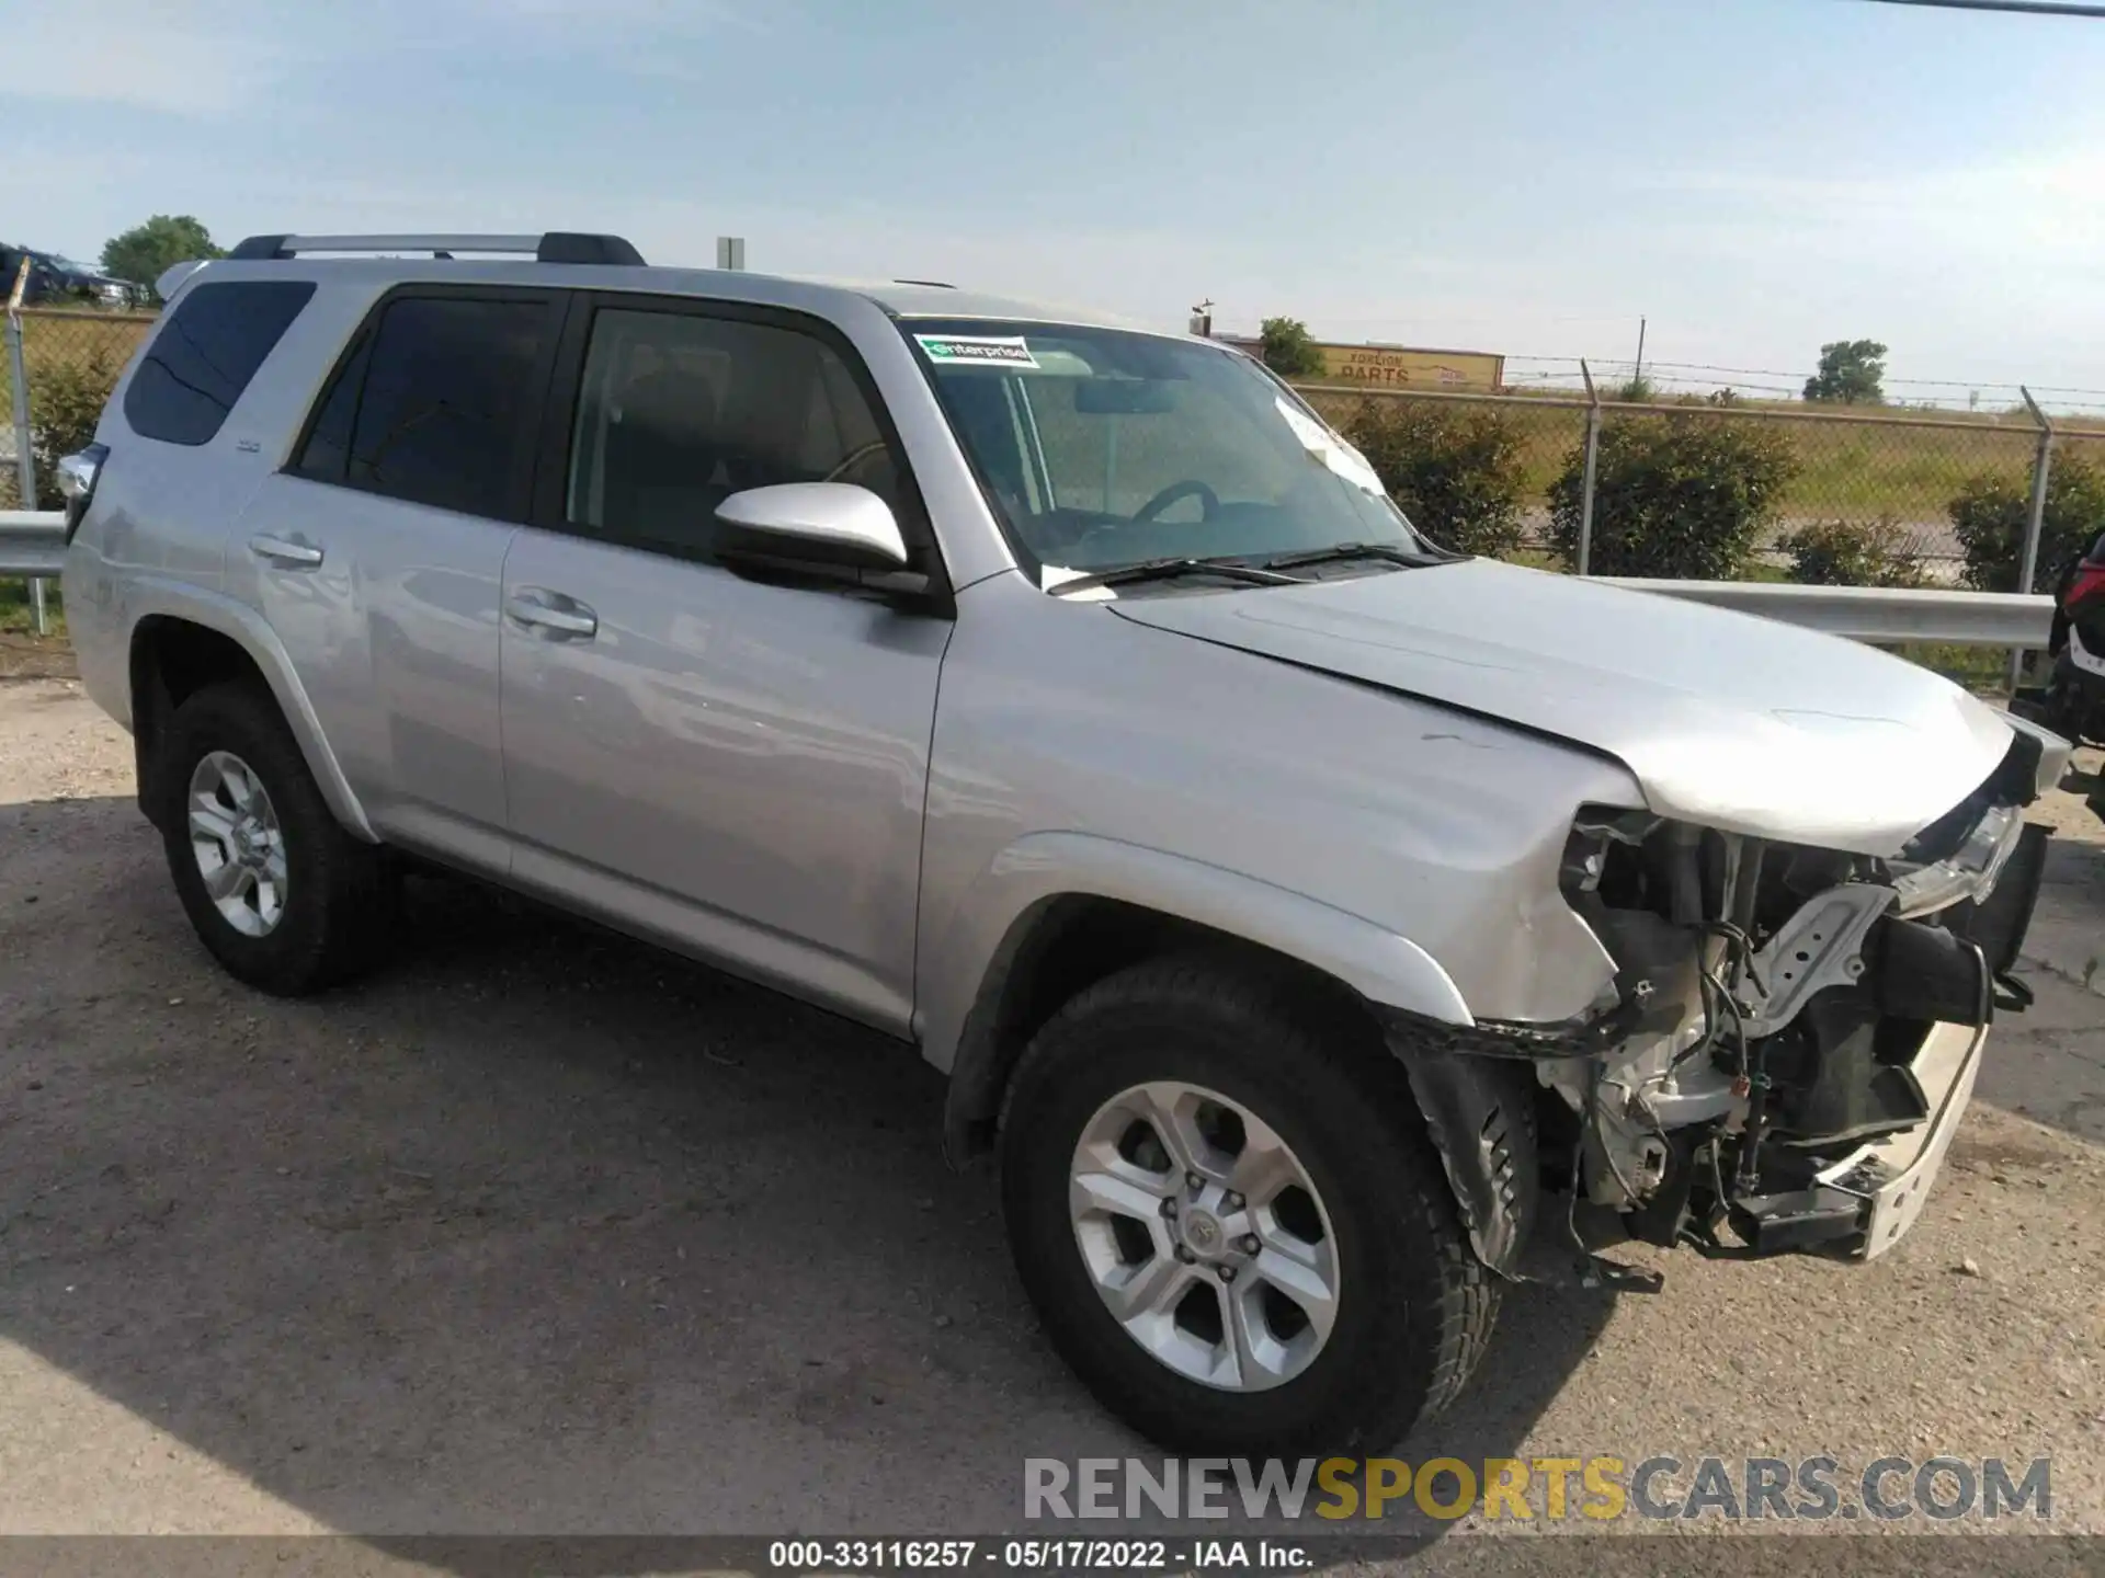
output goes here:
{"type": "MultiPolygon", "coordinates": [[[[1202,1096],[1191,1109],[1200,1128],[1210,1105],[1202,1096]]],[[[1212,1121],[1219,1130],[1219,1111],[1212,1121]]],[[[1147,1134],[1156,1130],[1156,1124],[1124,1130],[1118,1145],[1135,1145],[1135,1155],[1151,1170],[1164,1161],[1162,1151],[1147,1149],[1147,1134]]],[[[1261,1132],[1234,1130],[1244,1136],[1246,1155],[1250,1136],[1261,1132]]],[[[1221,1164],[1225,1155],[1210,1151],[1210,1161],[1221,1164]]],[[[1469,1250],[1402,1065],[1349,1010],[1328,1010],[1261,974],[1204,959],[1162,959],[1080,993],[1046,1023],[1017,1065],[1004,1105],[1000,1164],[1017,1273],[1055,1349],[1105,1408],[1166,1450],[1227,1456],[1381,1450],[1455,1399],[1490,1338],[1499,1283],[1469,1250]],[[1189,1368],[1206,1363],[1210,1332],[1189,1342],[1181,1332],[1151,1336],[1175,1361],[1158,1357],[1128,1334],[1107,1294],[1099,1292],[1101,1277],[1124,1277],[1128,1265],[1179,1275],[1160,1258],[1162,1239],[1143,1250],[1143,1239],[1135,1237],[1139,1227],[1107,1235],[1101,1220],[1084,1225],[1069,1208],[1071,1189],[1076,1199],[1095,1199],[1074,1185],[1074,1174],[1088,1170],[1078,1159],[1078,1145],[1088,1138],[1097,1147],[1090,1155],[1105,1155],[1103,1136],[1124,1121],[1120,1092],[1130,1094],[1147,1081],[1166,1081],[1158,1092],[1212,1092],[1240,1111],[1238,1126],[1255,1119],[1269,1128],[1290,1151],[1307,1193],[1320,1201],[1320,1222],[1307,1210],[1297,1214],[1311,1231],[1322,1229],[1335,1300],[1326,1334],[1311,1357],[1303,1353],[1299,1370],[1290,1361],[1274,1372],[1250,1363],[1246,1374],[1261,1382],[1257,1387],[1234,1378],[1221,1384],[1219,1372],[1212,1380],[1196,1378],[1189,1368]],[[1114,1269],[1105,1271],[1107,1265],[1114,1269]],[[1187,1372],[1179,1372],[1179,1363],[1187,1372]]],[[[1175,1174],[1168,1176],[1175,1185],[1175,1174]]],[[[1202,1172],[1194,1176],[1204,1178],[1202,1172]]],[[[1250,1214],[1240,1218],[1250,1225],[1261,1220],[1257,1193],[1246,1201],[1250,1214]]],[[[1175,1237],[1206,1227],[1194,1216],[1204,1197],[1189,1199],[1177,1218],[1164,1208],[1164,1233],[1175,1237]]],[[[1236,1208],[1240,1197],[1219,1199],[1236,1208]]],[[[1278,1309],[1269,1302],[1278,1290],[1263,1286],[1271,1281],[1263,1267],[1286,1218],[1284,1206],[1286,1193],[1276,1195],[1271,1235],[1238,1239],[1261,1243],[1261,1252],[1240,1269],[1229,1267],[1246,1294],[1267,1300],[1263,1311],[1278,1309]]],[[[1078,1210],[1086,1212],[1086,1203],[1078,1210]]],[[[1204,1273],[1208,1262],[1200,1258],[1196,1269],[1204,1273]]],[[[1221,1262],[1210,1269],[1219,1275],[1221,1262]]],[[[1191,1267],[1181,1275],[1196,1277],[1191,1267]]],[[[1179,1302],[1172,1319],[1181,1328],[1196,1315],[1202,1328],[1210,1319],[1212,1330],[1223,1330],[1229,1304],[1223,1300],[1206,1317],[1206,1296],[1231,1296],[1236,1283],[1215,1288],[1198,1277],[1198,1288],[1185,1294],[1196,1304],[1179,1302]]],[[[1271,1315],[1265,1319],[1269,1326],[1271,1315]]],[[[1160,1323],[1147,1330],[1166,1332],[1160,1323]]],[[[1309,1321],[1292,1342],[1314,1330],[1309,1321]]],[[[1217,1342],[1223,1344],[1217,1353],[1225,1351],[1225,1332],[1217,1342]]],[[[1248,1349],[1257,1351],[1255,1338],[1248,1349]]]]}

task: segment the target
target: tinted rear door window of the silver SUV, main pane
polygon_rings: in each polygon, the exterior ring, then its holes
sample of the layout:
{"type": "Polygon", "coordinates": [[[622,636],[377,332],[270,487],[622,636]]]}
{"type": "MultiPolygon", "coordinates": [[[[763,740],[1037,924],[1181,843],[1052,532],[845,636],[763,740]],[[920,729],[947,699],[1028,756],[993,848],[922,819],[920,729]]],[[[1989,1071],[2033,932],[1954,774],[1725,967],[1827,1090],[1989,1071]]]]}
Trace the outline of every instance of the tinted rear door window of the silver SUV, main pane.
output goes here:
{"type": "Polygon", "coordinates": [[[440,509],[507,513],[545,324],[539,301],[392,301],[366,356],[345,480],[440,509]]]}

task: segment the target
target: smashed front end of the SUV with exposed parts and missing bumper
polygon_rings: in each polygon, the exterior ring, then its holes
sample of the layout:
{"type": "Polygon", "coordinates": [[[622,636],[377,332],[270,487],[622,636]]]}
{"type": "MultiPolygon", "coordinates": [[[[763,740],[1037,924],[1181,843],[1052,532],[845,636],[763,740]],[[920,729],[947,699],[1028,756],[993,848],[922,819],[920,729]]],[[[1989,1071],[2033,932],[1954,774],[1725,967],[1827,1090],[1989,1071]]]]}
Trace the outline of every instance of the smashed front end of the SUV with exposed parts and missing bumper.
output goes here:
{"type": "Polygon", "coordinates": [[[1478,1254],[1657,1286],[1619,1241],[1871,1258],[1913,1222],[1972,1094],[2067,747],[2004,764],[1894,856],[1583,810],[1566,903],[1615,959],[1566,1025],[1391,1029],[1478,1254]]]}

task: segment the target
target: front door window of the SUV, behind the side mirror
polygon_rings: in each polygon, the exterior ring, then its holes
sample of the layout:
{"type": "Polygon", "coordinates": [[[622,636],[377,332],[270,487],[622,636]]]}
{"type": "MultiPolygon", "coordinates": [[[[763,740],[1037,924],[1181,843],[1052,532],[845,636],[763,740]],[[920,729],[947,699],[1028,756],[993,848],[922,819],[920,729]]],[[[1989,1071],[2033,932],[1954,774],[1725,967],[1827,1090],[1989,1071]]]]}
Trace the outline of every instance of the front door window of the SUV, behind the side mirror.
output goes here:
{"type": "Polygon", "coordinates": [[[594,318],[570,442],[573,526],[707,558],[716,507],[775,482],[855,482],[901,511],[897,461],[840,356],[770,324],[594,318]]]}

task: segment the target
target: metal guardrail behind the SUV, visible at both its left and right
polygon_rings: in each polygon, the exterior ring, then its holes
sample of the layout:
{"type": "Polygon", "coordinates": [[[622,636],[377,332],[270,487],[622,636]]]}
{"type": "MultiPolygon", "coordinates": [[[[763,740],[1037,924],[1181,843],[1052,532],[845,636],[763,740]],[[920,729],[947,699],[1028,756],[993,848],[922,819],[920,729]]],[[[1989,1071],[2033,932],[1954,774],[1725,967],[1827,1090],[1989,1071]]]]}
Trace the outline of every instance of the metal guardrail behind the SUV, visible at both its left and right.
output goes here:
{"type": "MultiPolygon", "coordinates": [[[[65,515],[0,509],[0,576],[57,576],[65,566],[65,515]]],[[[2014,591],[1916,591],[1911,587],[1802,587],[1783,581],[1640,581],[1596,576],[1612,587],[1688,598],[1859,642],[1951,646],[2046,646],[2054,600],[2014,591]]]]}

